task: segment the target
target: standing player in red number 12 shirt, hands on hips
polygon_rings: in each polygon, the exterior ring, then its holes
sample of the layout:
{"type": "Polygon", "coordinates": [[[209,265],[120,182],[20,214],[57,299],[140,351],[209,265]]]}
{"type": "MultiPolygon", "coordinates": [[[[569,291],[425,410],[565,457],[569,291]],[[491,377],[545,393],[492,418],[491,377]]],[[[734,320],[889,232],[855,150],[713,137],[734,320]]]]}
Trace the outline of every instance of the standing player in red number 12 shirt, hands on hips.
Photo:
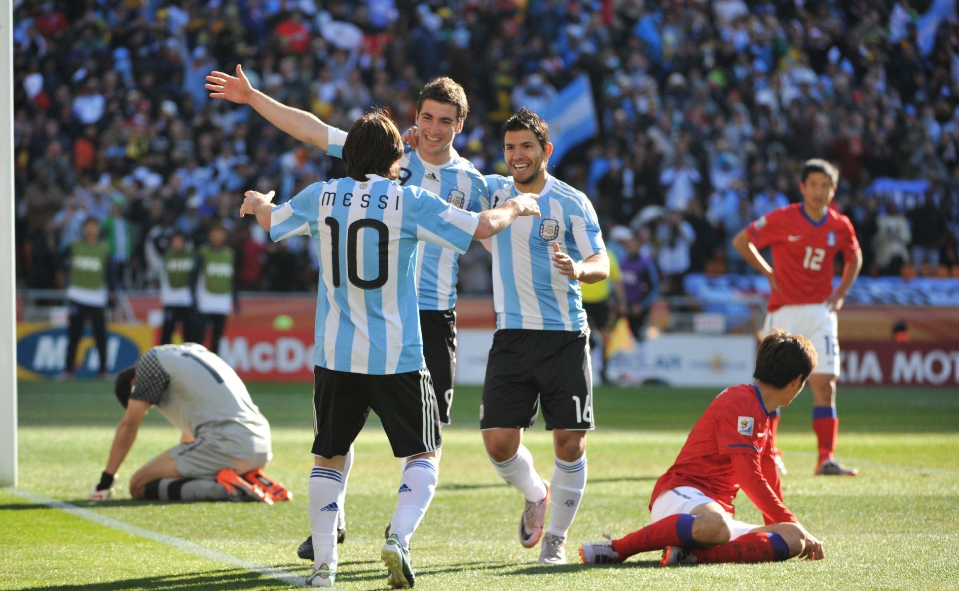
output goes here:
{"type": "MultiPolygon", "coordinates": [[[[857,470],[839,464],[835,452],[839,418],[836,414],[836,378],[839,376],[839,340],[836,312],[862,268],[862,251],[849,217],[830,208],[839,171],[829,162],[808,160],[801,171],[803,202],[774,210],[739,231],[733,246],[765,275],[772,288],[763,331],[779,327],[804,334],[819,361],[809,376],[812,390],[812,429],[819,441],[816,474],[854,476],[857,470]],[[770,266],[760,249],[772,247],[770,266]],[[839,286],[832,288],[833,262],[842,254],[839,286]]],[[[779,415],[772,421],[776,445],[779,415]]],[[[777,453],[777,458],[779,454],[777,453]]],[[[778,460],[784,473],[782,459],[778,460]]]]}

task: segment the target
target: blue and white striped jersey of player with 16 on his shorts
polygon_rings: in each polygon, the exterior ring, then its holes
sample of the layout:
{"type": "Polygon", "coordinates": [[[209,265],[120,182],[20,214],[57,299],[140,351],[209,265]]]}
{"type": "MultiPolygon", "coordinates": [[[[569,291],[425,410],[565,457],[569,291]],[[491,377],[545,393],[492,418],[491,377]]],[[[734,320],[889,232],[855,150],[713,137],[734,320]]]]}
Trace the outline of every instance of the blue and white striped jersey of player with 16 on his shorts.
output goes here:
{"type": "MultiPolygon", "coordinates": [[[[487,174],[490,201],[503,205],[518,193],[512,176],[487,174]]],[[[537,200],[541,217],[518,217],[491,239],[493,307],[498,329],[585,329],[586,312],[579,282],[552,265],[552,245],[584,261],[605,252],[596,211],[585,194],[547,175],[537,200]]]]}

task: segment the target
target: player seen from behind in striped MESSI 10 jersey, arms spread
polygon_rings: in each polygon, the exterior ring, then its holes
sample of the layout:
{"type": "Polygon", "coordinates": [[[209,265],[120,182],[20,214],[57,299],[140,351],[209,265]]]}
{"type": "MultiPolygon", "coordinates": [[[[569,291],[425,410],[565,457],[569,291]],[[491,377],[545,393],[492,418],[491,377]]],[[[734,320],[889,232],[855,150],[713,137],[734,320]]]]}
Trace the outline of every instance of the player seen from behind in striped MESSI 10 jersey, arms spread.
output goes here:
{"type": "Polygon", "coordinates": [[[314,586],[336,580],[342,469],[370,409],[383,421],[393,454],[407,459],[381,552],[387,584],[415,581],[409,539],[433,500],[442,443],[417,314],[418,242],[462,253],[472,239],[489,238],[518,216],[539,215],[535,195],[475,214],[404,187],[395,181],[402,155],[399,129],[374,111],[350,127],[343,143],[348,177],[315,183],[276,207],[272,193],[248,192],[240,210],[254,214],[271,239],[316,240],[316,467],[309,502],[315,569],[307,580],[314,586]]]}

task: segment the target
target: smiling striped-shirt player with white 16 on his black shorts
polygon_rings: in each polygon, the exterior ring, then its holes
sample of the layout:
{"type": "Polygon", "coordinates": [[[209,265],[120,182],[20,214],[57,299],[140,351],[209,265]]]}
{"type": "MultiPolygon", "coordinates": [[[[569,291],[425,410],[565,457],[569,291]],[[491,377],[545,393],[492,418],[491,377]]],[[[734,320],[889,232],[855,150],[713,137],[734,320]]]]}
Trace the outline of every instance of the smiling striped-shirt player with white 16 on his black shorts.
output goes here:
{"type": "Polygon", "coordinates": [[[609,259],[589,198],[547,172],[551,153],[547,123],[520,109],[503,125],[512,174],[486,176],[485,206],[536,193],[542,216],[518,220],[488,243],[497,331],[479,428],[497,474],[526,498],[520,542],[532,548],[542,538],[539,561],[564,564],[566,534],[586,488],[586,432],[594,428],[590,330],[579,284],[606,279],[609,259]],[[523,445],[523,430],[541,405],[553,436],[551,486],[523,445]]]}

